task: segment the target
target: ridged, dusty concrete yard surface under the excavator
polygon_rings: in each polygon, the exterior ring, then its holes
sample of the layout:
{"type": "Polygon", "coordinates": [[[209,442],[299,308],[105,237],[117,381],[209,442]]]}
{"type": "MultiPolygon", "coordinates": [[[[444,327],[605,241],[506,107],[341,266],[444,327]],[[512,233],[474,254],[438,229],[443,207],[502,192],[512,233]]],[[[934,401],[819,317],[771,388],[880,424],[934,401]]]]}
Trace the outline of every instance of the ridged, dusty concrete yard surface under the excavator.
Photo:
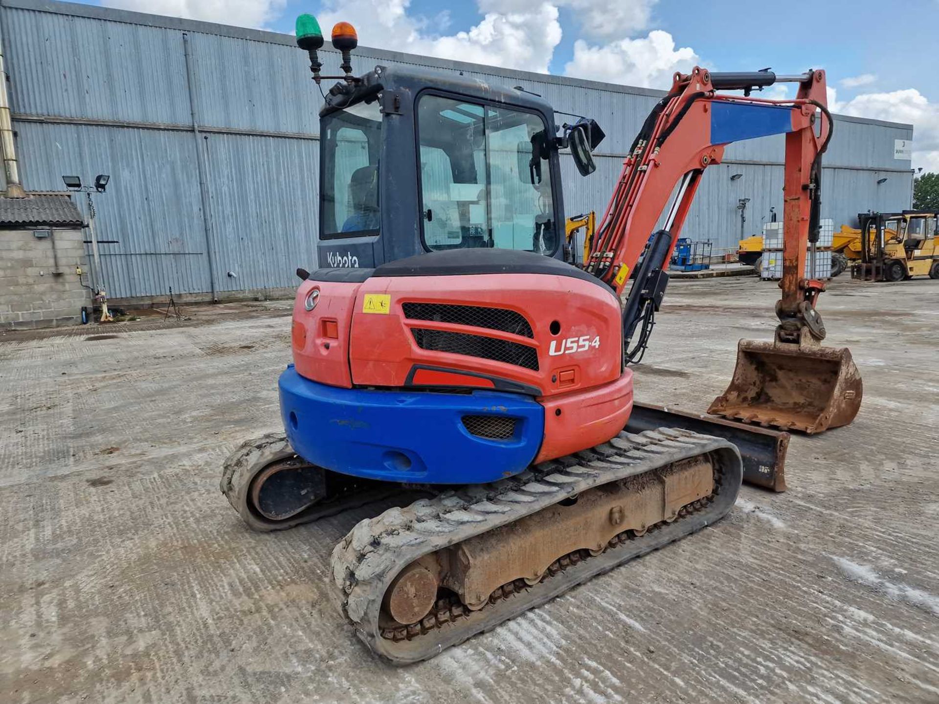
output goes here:
{"type": "MultiPolygon", "coordinates": [[[[777,293],[672,283],[637,397],[703,411],[777,293]]],[[[380,506],[257,534],[219,492],[279,429],[289,301],[0,335],[0,700],[939,701],[937,295],[824,294],[864,403],[793,436],[788,492],[745,486],[715,526],[403,668],[328,595],[332,545],[380,506]]]]}

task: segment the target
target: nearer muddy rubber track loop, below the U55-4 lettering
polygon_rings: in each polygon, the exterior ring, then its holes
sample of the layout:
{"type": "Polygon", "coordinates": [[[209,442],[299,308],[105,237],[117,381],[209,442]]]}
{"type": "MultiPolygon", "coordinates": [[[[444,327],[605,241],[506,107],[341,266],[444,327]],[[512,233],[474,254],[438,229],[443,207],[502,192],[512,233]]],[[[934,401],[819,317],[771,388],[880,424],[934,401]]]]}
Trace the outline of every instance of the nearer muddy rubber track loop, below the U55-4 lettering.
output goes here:
{"type": "Polygon", "coordinates": [[[531,467],[511,479],[447,491],[362,520],[332,551],[331,574],[337,588],[333,596],[356,634],[378,655],[396,665],[425,660],[596,574],[714,523],[731,510],[742,479],[740,453],[727,440],[679,428],[620,433],[591,450],[531,467]],[[714,501],[706,508],[659,524],[635,540],[426,634],[403,641],[382,637],[378,625],[382,597],[394,576],[415,559],[517,521],[564,497],[706,453],[712,453],[721,476],[714,501]]]}

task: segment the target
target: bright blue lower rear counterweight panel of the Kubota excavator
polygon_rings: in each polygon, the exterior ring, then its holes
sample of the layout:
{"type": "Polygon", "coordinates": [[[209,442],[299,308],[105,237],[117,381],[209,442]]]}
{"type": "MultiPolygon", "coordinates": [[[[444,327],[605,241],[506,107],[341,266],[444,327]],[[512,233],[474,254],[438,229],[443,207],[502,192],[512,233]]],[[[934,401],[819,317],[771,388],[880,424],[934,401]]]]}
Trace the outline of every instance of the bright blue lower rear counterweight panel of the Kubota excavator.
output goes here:
{"type": "Polygon", "coordinates": [[[307,462],[385,482],[495,482],[531,465],[545,434],[545,408],[500,391],[430,393],[339,389],[281,375],[281,417],[307,462]],[[513,419],[507,439],[469,433],[464,416],[513,419]]]}

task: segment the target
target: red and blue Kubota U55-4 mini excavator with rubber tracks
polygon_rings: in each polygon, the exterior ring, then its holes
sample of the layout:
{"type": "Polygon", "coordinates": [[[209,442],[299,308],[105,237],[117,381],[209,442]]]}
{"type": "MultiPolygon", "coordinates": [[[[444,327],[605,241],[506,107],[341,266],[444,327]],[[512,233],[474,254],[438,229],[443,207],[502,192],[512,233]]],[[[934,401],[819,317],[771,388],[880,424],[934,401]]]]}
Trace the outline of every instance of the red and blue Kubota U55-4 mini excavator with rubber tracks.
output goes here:
{"type": "Polygon", "coordinates": [[[681,424],[623,432],[630,364],[725,145],[785,135],[786,237],[774,339],[740,342],[712,412],[817,433],[854,419],[861,380],[847,349],[820,344],[824,283],[803,276],[832,132],[824,71],[676,73],[575,267],[562,261],[560,160],[569,149],[591,173],[599,126],[558,128],[546,100],[462,73],[353,75],[357,41],[333,28],[343,74],[323,76],[318,24],[298,21],[316,84],[337,80],[320,111],[331,268],[298,269],[285,433],[235,451],[222,490],[257,530],[396,502],[335,546],[330,573],[357,635],[406,664],[731,510],[733,443],[681,424]],[[779,82],[797,96],[751,95],[779,82]]]}

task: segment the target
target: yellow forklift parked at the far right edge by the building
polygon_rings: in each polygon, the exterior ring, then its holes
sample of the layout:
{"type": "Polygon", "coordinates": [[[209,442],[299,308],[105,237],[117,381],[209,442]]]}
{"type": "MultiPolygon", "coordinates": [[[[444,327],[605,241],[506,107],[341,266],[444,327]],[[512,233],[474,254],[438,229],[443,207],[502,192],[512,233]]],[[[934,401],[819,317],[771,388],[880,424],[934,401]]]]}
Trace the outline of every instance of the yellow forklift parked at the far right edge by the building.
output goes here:
{"type": "Polygon", "coordinates": [[[939,220],[931,210],[860,213],[861,259],[853,279],[899,282],[914,276],[939,279],[939,220]]]}

